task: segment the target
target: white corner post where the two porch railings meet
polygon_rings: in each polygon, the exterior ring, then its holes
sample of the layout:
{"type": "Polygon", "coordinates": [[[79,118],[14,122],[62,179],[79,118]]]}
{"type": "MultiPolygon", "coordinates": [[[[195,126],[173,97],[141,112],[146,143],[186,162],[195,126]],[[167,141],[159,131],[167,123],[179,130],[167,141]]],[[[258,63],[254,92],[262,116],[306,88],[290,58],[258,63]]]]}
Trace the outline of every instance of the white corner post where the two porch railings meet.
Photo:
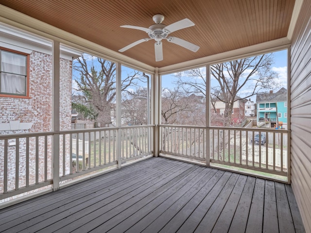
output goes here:
{"type": "Polygon", "coordinates": [[[158,69],[155,68],[155,74],[152,76],[152,97],[153,97],[153,120],[151,121],[155,125],[154,136],[153,136],[153,146],[154,146],[154,156],[157,157],[159,155],[159,146],[160,146],[160,135],[159,135],[159,122],[160,122],[160,92],[161,92],[161,78],[158,73],[158,69]]]}

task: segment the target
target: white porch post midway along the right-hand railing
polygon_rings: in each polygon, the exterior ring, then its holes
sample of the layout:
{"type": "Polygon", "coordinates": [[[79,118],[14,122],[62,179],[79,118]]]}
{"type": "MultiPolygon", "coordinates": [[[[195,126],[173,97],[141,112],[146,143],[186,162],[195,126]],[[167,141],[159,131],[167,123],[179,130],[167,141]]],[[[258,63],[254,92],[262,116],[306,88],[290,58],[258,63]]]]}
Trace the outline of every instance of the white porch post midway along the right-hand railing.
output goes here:
{"type": "Polygon", "coordinates": [[[205,109],[205,116],[206,116],[206,166],[209,166],[210,162],[210,65],[206,66],[206,109],[205,109]]]}

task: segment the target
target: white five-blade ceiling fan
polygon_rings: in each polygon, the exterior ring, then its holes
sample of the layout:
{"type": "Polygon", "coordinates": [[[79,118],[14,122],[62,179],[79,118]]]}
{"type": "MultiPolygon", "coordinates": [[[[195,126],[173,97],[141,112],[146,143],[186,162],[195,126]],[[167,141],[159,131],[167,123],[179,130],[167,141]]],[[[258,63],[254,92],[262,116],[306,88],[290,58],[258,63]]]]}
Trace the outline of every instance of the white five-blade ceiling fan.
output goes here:
{"type": "Polygon", "coordinates": [[[132,44],[129,44],[128,46],[125,46],[124,48],[119,50],[119,52],[124,52],[142,42],[145,42],[151,39],[155,40],[155,61],[156,62],[163,60],[162,39],[166,39],[168,42],[182,46],[193,52],[196,52],[197,50],[200,49],[199,46],[192,44],[189,41],[183,40],[175,36],[169,36],[170,33],[173,33],[177,30],[194,26],[194,23],[190,19],[185,18],[175,23],[172,23],[169,26],[162,24],[162,21],[164,20],[164,16],[162,15],[157,14],[154,17],[152,17],[152,19],[155,21],[155,24],[151,25],[149,28],[132,26],[132,25],[120,26],[121,28],[132,28],[132,29],[138,29],[138,30],[144,31],[148,33],[149,38],[143,38],[138,41],[135,41],[132,44]]]}

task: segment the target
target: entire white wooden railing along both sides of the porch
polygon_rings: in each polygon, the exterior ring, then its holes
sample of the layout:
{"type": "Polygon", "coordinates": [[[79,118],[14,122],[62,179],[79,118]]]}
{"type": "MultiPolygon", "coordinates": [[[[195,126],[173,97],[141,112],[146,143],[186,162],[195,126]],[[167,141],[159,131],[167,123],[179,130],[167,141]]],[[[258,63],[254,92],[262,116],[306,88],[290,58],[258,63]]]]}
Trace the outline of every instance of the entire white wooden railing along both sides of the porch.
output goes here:
{"type": "MultiPolygon", "coordinates": [[[[55,185],[153,156],[154,127],[139,125],[0,135],[0,202],[44,188],[53,189],[55,185]],[[58,137],[59,144],[55,142],[58,137]],[[55,144],[57,147],[53,146],[55,144]],[[55,148],[59,150],[54,151],[55,148]],[[55,155],[59,158],[57,169],[53,169],[55,155]],[[57,182],[55,172],[59,173],[57,182]]],[[[158,127],[160,156],[223,169],[245,169],[243,173],[247,170],[264,172],[284,177],[285,182],[289,182],[289,131],[158,127]],[[258,133],[266,135],[263,145],[254,143],[258,133]]]]}

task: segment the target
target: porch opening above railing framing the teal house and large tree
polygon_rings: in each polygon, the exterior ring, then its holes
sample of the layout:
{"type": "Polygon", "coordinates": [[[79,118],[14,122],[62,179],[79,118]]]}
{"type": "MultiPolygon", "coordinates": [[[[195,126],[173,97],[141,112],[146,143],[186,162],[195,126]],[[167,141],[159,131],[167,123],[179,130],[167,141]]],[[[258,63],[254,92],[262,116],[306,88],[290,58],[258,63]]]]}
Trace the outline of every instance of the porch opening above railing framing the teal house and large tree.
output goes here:
{"type": "Polygon", "coordinates": [[[245,127],[257,122],[257,127],[273,128],[281,121],[286,126],[286,119],[277,119],[287,111],[286,88],[287,50],[212,65],[211,113],[216,114],[211,114],[210,125],[245,127]]]}

